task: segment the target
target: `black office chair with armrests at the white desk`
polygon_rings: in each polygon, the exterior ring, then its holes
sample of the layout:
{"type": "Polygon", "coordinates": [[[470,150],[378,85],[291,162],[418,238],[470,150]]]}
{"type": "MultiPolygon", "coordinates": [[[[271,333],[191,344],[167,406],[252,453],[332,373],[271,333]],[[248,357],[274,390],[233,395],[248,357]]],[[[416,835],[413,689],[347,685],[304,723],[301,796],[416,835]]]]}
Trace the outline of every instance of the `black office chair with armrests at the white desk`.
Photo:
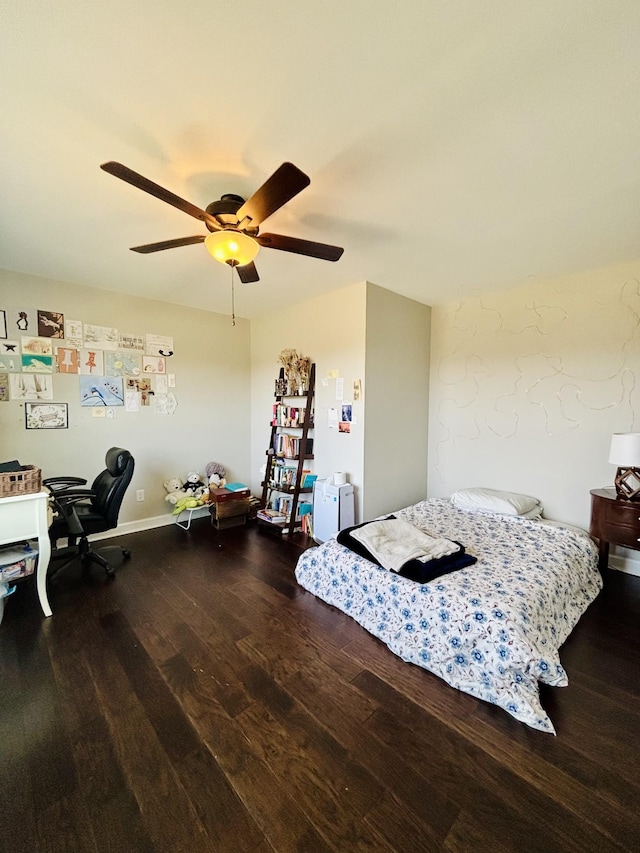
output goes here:
{"type": "MultiPolygon", "coordinates": [[[[67,558],[62,566],[54,569],[55,577],[77,557],[80,557],[83,571],[91,563],[97,563],[105,570],[107,577],[115,576],[111,564],[94,551],[88,536],[112,530],[118,525],[118,514],[124,493],[133,477],[134,459],[128,450],[112,447],[105,457],[107,467],[98,474],[90,489],[81,488],[86,480],[81,477],[48,477],[43,480],[52,495],[54,519],[49,528],[52,543],[51,561],[67,558]],[[67,546],[57,548],[58,539],[67,539],[67,546]]],[[[108,546],[101,551],[120,552],[127,560],[131,552],[120,546],[108,546]]]]}

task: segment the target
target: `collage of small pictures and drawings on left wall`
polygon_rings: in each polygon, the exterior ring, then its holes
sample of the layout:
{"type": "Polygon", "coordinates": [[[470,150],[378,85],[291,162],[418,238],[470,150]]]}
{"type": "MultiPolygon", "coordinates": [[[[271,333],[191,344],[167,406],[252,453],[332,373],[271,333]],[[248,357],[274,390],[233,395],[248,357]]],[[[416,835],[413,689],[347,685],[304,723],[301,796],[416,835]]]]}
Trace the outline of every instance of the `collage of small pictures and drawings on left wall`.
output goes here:
{"type": "Polygon", "coordinates": [[[167,335],[121,332],[60,311],[0,308],[0,403],[24,403],[26,429],[66,429],[69,401],[54,402],[55,376],[66,373],[78,376],[80,406],[94,417],[114,417],[117,408],[173,414],[172,355],[167,335]]]}

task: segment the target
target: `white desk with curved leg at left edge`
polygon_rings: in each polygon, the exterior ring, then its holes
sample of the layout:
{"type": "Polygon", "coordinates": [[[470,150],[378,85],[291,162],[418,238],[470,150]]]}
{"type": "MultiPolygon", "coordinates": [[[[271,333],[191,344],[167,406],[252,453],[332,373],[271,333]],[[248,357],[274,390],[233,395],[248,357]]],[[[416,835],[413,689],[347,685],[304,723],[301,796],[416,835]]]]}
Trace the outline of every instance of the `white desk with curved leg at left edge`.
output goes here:
{"type": "Polygon", "coordinates": [[[51,558],[47,524],[48,497],[49,492],[41,491],[13,498],[0,498],[0,545],[19,542],[21,539],[38,539],[36,585],[45,616],[51,616],[47,598],[47,569],[51,558]]]}

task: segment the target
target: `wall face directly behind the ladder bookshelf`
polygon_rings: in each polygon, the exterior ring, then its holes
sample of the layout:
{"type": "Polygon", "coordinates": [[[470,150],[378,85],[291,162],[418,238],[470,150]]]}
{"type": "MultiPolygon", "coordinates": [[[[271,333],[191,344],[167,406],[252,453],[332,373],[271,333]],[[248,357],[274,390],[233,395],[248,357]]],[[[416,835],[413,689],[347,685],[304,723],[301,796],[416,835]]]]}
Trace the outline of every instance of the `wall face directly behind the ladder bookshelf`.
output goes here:
{"type": "MultiPolygon", "coordinates": [[[[328,410],[336,400],[337,370],[344,380],[344,398],[352,400],[353,381],[365,373],[366,283],[355,284],[251,322],[252,434],[251,485],[260,494],[260,468],[269,446],[274,381],[283,349],[296,349],[316,364],[316,403],[313,469],[319,477],[345,471],[356,493],[356,515],[362,513],[364,419],[362,403],[353,404],[356,423],[350,434],[329,429],[328,410]]],[[[366,397],[366,388],[364,388],[366,397]]]]}

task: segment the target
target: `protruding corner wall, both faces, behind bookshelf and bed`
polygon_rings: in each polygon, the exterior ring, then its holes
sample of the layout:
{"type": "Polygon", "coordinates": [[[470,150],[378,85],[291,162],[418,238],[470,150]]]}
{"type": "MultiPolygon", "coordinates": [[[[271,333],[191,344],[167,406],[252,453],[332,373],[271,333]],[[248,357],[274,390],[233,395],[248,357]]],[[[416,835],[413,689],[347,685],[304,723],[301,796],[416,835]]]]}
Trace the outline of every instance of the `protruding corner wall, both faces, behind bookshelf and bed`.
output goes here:
{"type": "Polygon", "coordinates": [[[251,323],[252,475],[258,491],[268,447],[278,354],[293,347],[316,363],[314,470],[344,471],[356,520],[426,497],[430,309],[369,282],[328,293],[251,323]],[[350,434],[328,427],[337,371],[353,404],[350,434]],[[363,396],[353,399],[354,380],[363,396]]]}

